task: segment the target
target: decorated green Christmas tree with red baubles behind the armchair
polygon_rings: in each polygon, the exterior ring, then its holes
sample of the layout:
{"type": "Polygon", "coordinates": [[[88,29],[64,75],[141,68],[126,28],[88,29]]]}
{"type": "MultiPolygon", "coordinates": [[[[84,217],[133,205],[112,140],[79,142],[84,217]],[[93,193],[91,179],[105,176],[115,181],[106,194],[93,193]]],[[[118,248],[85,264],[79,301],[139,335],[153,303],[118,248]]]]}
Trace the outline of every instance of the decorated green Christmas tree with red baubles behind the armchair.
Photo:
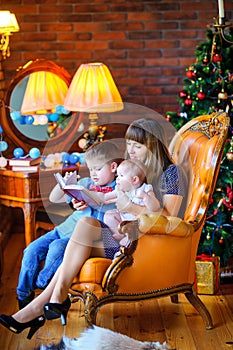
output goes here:
{"type": "Polygon", "coordinates": [[[233,30],[223,38],[220,28],[213,26],[206,36],[196,48],[195,63],[186,69],[179,111],[168,112],[167,118],[178,130],[199,115],[222,110],[230,116],[229,137],[198,247],[198,254],[220,256],[221,266],[226,266],[233,257],[233,30]]]}

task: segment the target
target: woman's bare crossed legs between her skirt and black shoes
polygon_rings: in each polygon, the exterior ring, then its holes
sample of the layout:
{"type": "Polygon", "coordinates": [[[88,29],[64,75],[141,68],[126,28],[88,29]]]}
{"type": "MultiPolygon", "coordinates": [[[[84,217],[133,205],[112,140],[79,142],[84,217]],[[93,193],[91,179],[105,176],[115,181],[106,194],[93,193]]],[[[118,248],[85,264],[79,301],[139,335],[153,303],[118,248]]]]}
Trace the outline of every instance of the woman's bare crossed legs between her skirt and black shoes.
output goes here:
{"type": "Polygon", "coordinates": [[[92,256],[104,256],[101,240],[101,226],[98,220],[82,218],[78,221],[67,244],[64,259],[52,280],[37,298],[14,315],[18,322],[28,322],[43,314],[47,302],[62,303],[75,275],[84,262],[92,256]]]}

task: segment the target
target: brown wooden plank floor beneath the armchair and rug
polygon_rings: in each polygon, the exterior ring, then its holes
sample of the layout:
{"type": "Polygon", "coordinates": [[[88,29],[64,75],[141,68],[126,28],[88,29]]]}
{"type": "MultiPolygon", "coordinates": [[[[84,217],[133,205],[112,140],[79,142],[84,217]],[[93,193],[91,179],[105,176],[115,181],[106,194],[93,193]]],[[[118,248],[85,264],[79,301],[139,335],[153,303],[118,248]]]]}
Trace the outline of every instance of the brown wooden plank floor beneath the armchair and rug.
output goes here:
{"type": "MultiPolygon", "coordinates": [[[[4,251],[0,313],[17,310],[15,287],[23,242],[23,234],[13,234],[4,251]]],[[[213,330],[205,330],[201,317],[183,296],[179,296],[179,304],[161,298],[104,306],[97,323],[142,341],[167,341],[177,350],[233,349],[233,284],[221,285],[219,295],[200,297],[213,317],[213,330]]],[[[78,337],[84,329],[83,308],[78,302],[70,309],[66,327],[61,326],[60,320],[47,321],[32,340],[26,339],[27,330],[17,335],[0,327],[0,349],[31,350],[40,344],[59,342],[62,334],[78,337]]]]}

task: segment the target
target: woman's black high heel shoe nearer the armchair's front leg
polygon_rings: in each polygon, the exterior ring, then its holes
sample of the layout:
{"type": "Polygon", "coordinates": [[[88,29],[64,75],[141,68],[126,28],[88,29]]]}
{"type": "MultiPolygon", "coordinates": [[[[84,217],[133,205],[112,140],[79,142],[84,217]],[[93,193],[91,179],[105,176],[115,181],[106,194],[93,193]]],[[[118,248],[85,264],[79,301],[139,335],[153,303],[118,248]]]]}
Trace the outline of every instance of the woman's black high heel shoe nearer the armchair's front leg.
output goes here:
{"type": "Polygon", "coordinates": [[[47,320],[54,320],[55,318],[61,318],[63,326],[66,325],[66,316],[69,311],[71,302],[70,298],[67,297],[62,303],[46,303],[44,305],[44,315],[47,320]]]}

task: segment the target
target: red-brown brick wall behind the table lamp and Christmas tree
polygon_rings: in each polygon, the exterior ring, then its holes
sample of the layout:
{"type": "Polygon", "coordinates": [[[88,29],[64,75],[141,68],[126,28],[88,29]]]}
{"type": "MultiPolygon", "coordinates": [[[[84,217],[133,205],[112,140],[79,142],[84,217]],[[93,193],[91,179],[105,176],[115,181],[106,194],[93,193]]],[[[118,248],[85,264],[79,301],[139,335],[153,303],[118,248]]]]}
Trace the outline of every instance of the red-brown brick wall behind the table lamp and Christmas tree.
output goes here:
{"type": "MultiPolygon", "coordinates": [[[[177,110],[185,68],[218,15],[217,0],[1,0],[0,8],[14,12],[21,29],[2,64],[6,86],[31,59],[50,59],[72,75],[84,62],[101,61],[124,101],[164,115],[177,110]]],[[[225,10],[232,21],[232,0],[225,10]]]]}

